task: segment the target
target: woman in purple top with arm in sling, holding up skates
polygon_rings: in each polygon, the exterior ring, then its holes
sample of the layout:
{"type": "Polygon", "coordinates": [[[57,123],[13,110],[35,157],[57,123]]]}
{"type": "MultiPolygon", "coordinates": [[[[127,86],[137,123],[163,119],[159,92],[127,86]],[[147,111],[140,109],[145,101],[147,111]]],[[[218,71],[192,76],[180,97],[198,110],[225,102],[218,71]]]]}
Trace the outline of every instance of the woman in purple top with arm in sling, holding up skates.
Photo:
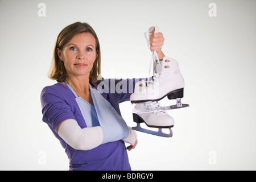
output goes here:
{"type": "MultiPolygon", "coordinates": [[[[151,34],[151,51],[157,51],[160,59],[163,41],[161,33],[151,34]]],[[[137,134],[119,110],[119,103],[129,101],[131,92],[128,87],[127,92],[112,92],[111,85],[120,80],[98,79],[100,53],[89,24],[76,22],[60,32],[49,75],[57,84],[46,86],[41,94],[43,121],[65,148],[70,170],[131,170],[126,149],[135,148],[137,134]],[[130,146],[125,148],[125,142],[130,146]]],[[[121,80],[132,88],[137,81],[121,80]]]]}

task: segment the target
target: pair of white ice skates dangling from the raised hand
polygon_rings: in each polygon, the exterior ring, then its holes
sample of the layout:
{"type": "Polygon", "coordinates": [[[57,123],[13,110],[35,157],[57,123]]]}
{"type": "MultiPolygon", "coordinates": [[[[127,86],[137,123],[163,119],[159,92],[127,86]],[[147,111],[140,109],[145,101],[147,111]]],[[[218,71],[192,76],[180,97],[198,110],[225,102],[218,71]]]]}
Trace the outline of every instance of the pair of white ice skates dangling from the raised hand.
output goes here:
{"type": "MultiPolygon", "coordinates": [[[[151,27],[144,35],[149,44],[149,35],[152,29],[158,32],[158,27],[151,27]]],[[[158,135],[160,137],[172,137],[171,127],[174,126],[174,118],[167,114],[166,110],[179,109],[188,107],[188,104],[182,104],[184,80],[180,73],[179,64],[176,60],[169,57],[164,57],[159,60],[156,51],[152,52],[154,76],[147,81],[139,81],[135,84],[134,93],[130,96],[130,101],[133,104],[133,119],[137,123],[133,130],[143,133],[158,135]],[[169,100],[176,99],[176,105],[160,106],[158,101],[164,97],[169,100]],[[148,127],[158,128],[158,131],[143,129],[141,123],[146,123],[148,127]],[[164,133],[162,129],[168,129],[169,133],[164,133]]]]}

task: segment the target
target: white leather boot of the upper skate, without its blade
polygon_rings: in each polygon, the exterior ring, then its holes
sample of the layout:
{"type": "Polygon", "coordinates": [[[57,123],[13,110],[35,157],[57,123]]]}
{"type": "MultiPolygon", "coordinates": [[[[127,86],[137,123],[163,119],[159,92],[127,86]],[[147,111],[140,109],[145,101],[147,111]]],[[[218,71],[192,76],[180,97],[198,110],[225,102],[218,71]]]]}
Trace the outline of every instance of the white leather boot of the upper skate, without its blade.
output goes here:
{"type": "Polygon", "coordinates": [[[176,60],[164,57],[162,71],[153,79],[135,84],[135,91],[130,97],[132,103],[159,101],[166,96],[170,99],[183,97],[184,80],[176,60]]]}

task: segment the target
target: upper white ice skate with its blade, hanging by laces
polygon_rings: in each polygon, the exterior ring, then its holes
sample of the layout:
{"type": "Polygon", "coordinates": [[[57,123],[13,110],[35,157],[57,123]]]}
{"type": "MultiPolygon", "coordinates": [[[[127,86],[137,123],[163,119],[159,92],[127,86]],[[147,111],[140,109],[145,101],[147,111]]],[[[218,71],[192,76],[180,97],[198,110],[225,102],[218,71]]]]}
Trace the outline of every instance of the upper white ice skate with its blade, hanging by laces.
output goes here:
{"type": "MultiPolygon", "coordinates": [[[[158,30],[158,28],[155,29],[158,30]]],[[[164,57],[163,60],[160,61],[157,53],[153,51],[151,62],[153,62],[154,65],[154,76],[152,77],[152,80],[148,78],[147,81],[142,80],[137,82],[137,84],[135,84],[134,93],[131,94],[130,97],[130,101],[133,105],[143,103],[145,106],[140,110],[134,109],[133,106],[133,112],[147,113],[156,110],[160,111],[188,107],[188,104],[181,103],[181,98],[183,98],[184,92],[184,80],[180,73],[177,61],[170,57],[164,57]],[[176,99],[176,105],[151,108],[150,102],[162,100],[166,96],[169,100],[176,99]]]]}

